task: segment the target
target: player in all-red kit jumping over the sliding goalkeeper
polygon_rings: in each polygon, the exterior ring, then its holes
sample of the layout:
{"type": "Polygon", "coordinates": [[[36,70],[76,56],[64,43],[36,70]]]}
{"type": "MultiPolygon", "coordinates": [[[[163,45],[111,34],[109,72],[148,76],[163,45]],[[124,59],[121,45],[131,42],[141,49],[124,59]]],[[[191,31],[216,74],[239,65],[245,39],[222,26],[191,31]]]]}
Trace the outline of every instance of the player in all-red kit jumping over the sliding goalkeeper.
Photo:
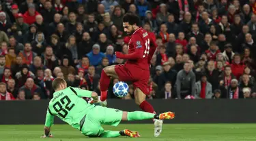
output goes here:
{"type": "MultiPolygon", "coordinates": [[[[145,112],[155,113],[153,106],[145,99],[146,95],[149,94],[147,82],[150,79],[150,60],[156,50],[156,43],[148,35],[147,31],[138,25],[138,16],[130,13],[124,15],[124,32],[131,36],[128,43],[129,52],[128,54],[115,52],[115,55],[117,58],[126,59],[127,62],[103,68],[100,78],[100,100],[102,102],[106,100],[111,77],[119,78],[120,81],[132,81],[135,89],[135,103],[145,112]]],[[[154,125],[154,136],[159,136],[162,132],[162,121],[155,120],[154,125]]]]}

